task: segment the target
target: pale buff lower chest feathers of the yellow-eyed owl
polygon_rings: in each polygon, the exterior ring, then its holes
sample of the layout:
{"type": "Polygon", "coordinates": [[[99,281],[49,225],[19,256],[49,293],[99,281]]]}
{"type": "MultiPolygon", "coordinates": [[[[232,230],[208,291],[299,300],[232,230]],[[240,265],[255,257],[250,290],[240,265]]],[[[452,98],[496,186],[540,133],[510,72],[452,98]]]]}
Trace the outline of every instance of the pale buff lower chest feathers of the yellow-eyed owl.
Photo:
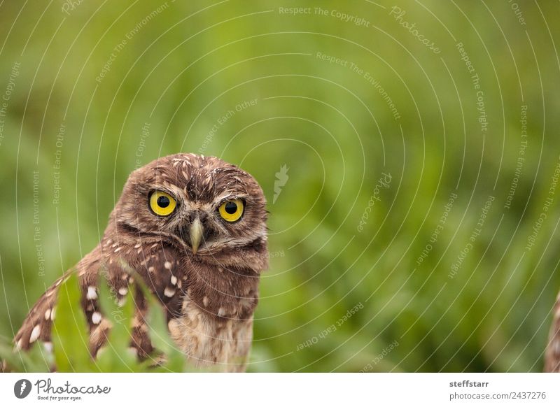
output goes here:
{"type": "Polygon", "coordinates": [[[244,371],[253,339],[253,315],[245,319],[218,318],[188,297],[183,315],[169,321],[169,332],[179,348],[198,367],[244,371]]]}

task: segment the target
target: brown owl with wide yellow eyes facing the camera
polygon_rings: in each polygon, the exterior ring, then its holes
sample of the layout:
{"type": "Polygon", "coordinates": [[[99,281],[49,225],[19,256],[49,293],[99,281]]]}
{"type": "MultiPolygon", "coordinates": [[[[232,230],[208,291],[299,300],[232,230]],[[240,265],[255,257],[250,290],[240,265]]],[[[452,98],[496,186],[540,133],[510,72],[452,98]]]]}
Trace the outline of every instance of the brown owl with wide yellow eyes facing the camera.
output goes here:
{"type": "MultiPolygon", "coordinates": [[[[253,336],[260,273],[267,269],[267,210],[255,178],[216,157],[177,154],[133,171],[102,241],[69,273],[78,273],[80,305],[93,357],[111,322],[99,308],[99,284],[122,304],[141,278],[167,313],[170,336],[195,366],[244,371],[253,336]]],[[[27,350],[52,348],[59,278],[31,308],[15,336],[27,350]]],[[[134,290],[130,346],[153,352],[146,298],[134,290]]]]}

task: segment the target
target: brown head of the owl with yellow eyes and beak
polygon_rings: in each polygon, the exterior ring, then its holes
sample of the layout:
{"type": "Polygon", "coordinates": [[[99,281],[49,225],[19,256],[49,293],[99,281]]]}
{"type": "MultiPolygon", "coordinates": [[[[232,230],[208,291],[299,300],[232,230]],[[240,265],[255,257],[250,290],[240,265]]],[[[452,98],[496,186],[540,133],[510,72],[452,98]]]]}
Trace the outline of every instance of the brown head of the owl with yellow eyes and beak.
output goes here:
{"type": "Polygon", "coordinates": [[[178,154],[134,171],[113,216],[118,229],[205,257],[266,239],[265,206],[256,180],[237,166],[178,154]]]}

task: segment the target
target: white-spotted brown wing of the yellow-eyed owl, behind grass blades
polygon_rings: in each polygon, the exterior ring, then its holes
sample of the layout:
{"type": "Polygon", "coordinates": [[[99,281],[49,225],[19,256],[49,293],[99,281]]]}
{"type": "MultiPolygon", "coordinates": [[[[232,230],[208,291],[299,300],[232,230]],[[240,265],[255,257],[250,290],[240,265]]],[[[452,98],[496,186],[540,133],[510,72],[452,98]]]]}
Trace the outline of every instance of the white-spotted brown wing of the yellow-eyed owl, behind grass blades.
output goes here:
{"type": "MultiPolygon", "coordinates": [[[[36,301],[15,336],[16,349],[27,350],[36,341],[43,341],[48,350],[51,345],[52,321],[55,320],[56,297],[59,285],[71,273],[78,273],[81,290],[80,306],[90,328],[90,352],[97,351],[106,343],[111,322],[103,317],[98,301],[98,285],[106,280],[117,304],[122,305],[131,285],[137,285],[140,276],[148,289],[155,294],[167,312],[168,320],[181,313],[183,280],[178,253],[162,243],[115,246],[111,239],[102,242],[90,254],[61,278],[58,278],[36,301]],[[132,259],[132,260],[131,260],[132,259]]],[[[139,288],[139,287],[137,287],[139,288]]],[[[153,347],[146,324],[147,303],[142,290],[135,290],[134,319],[132,321],[131,346],[140,357],[146,357],[153,347]]]]}

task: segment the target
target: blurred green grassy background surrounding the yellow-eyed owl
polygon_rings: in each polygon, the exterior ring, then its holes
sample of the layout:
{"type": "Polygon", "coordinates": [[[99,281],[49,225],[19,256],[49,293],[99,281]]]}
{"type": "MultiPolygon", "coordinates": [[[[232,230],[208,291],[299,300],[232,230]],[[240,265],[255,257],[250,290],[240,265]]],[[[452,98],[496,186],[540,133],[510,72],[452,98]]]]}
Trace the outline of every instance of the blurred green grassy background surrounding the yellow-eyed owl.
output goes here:
{"type": "MultiPolygon", "coordinates": [[[[525,24],[506,1],[402,1],[400,20],[392,6],[3,1],[0,333],[9,340],[45,288],[94,248],[134,168],[203,152],[252,173],[269,201],[250,371],[540,371],[560,287],[550,190],[559,5],[519,2],[525,24]],[[383,173],[391,184],[376,192],[383,173]]],[[[68,329],[60,340],[78,341],[68,329]]]]}

